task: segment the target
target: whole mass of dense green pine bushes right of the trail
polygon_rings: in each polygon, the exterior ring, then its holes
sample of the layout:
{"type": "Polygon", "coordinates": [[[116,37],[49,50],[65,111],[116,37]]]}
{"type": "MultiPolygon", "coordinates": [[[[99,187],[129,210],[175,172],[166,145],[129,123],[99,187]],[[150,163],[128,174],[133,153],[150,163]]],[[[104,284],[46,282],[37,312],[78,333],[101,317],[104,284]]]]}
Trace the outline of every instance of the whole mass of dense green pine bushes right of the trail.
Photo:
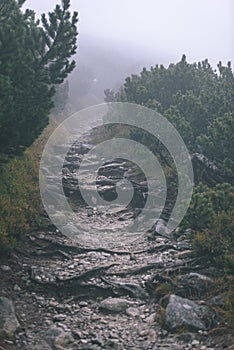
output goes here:
{"type": "MultiPolygon", "coordinates": [[[[231,63],[223,66],[219,62],[215,70],[207,59],[189,64],[183,55],[168,68],[156,65],[128,77],[117,93],[106,90],[106,99],[137,103],[162,113],[178,130],[190,152],[201,155],[193,165],[196,181],[201,179],[203,183],[195,187],[182,230],[192,229],[198,255],[207,255],[232,271],[234,74],[231,63]]],[[[176,195],[174,164],[160,142],[144,132],[133,131],[131,136],[159,156],[164,173],[169,175],[169,192],[174,186],[176,195]]]]}

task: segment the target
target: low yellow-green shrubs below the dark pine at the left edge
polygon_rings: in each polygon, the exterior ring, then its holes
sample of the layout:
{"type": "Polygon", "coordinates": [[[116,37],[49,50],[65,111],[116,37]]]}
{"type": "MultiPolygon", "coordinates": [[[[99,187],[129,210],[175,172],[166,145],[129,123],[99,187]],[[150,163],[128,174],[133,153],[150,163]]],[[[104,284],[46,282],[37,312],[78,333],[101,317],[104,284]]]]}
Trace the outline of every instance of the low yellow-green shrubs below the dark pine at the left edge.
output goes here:
{"type": "Polygon", "coordinates": [[[40,222],[42,204],[37,184],[38,164],[30,154],[14,158],[1,169],[0,252],[40,222]]]}

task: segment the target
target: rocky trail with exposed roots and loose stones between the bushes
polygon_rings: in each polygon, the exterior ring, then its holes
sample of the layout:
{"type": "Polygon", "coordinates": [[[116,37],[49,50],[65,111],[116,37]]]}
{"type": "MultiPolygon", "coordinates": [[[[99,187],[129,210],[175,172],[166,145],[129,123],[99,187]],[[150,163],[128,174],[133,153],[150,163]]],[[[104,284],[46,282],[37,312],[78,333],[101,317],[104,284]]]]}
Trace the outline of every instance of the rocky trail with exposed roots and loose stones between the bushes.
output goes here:
{"type": "MultiPolygon", "coordinates": [[[[81,153],[68,156],[64,191],[71,199],[78,198],[72,172],[81,153]]],[[[118,162],[100,174],[104,196],[112,196],[126,171],[118,162]],[[114,177],[116,168],[122,170],[114,177]]],[[[138,180],[140,203],[147,190],[138,180]]],[[[134,217],[133,207],[113,222],[76,202],[77,214],[116,230],[134,217]]],[[[163,228],[159,220],[125,247],[78,244],[52,225],[25,237],[1,261],[0,350],[233,349],[221,313],[224,277],[194,255],[186,232],[176,238],[163,228]]]]}

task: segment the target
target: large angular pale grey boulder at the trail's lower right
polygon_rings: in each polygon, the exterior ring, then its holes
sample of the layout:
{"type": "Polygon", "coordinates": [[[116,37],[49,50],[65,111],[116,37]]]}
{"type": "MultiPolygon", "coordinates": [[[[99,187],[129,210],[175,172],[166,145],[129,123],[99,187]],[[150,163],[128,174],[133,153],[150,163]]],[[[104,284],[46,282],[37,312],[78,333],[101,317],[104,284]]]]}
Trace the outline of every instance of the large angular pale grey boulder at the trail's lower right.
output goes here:
{"type": "Polygon", "coordinates": [[[164,326],[172,332],[180,328],[206,330],[213,326],[214,317],[214,311],[208,306],[172,294],[165,310],[164,326]]]}

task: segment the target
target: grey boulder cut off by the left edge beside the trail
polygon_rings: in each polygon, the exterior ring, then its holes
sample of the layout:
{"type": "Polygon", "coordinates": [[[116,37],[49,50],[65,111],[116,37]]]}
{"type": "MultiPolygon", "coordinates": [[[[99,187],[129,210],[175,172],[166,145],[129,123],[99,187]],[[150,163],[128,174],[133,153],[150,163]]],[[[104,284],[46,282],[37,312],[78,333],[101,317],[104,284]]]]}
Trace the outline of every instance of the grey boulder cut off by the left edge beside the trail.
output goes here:
{"type": "Polygon", "coordinates": [[[19,326],[13,302],[5,297],[0,298],[0,336],[12,338],[19,326]]]}

